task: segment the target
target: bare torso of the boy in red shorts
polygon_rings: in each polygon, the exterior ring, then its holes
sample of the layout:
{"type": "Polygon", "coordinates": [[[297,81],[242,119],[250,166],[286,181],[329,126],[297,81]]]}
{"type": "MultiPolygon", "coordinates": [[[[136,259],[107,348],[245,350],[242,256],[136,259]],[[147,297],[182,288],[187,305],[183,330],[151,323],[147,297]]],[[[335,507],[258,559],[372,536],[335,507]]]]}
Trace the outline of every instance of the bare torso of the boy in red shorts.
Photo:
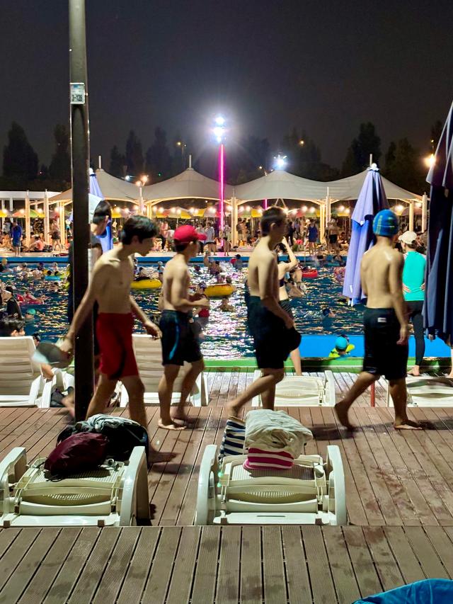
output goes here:
{"type": "Polygon", "coordinates": [[[94,266],[90,283],[99,312],[129,314],[133,280],[134,263],[130,256],[120,259],[116,249],[103,253],[94,266]]]}

